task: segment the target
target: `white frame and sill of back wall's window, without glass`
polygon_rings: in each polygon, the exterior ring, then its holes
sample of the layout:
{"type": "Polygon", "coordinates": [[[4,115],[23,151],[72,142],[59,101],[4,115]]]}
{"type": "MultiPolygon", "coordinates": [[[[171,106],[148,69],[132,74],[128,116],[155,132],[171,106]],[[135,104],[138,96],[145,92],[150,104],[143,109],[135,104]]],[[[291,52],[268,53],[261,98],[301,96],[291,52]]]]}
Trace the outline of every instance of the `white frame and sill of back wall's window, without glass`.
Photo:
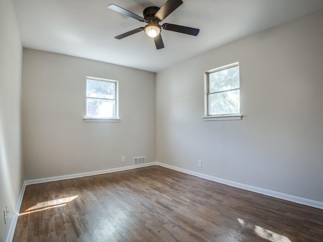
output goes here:
{"type": "Polygon", "coordinates": [[[118,123],[120,122],[120,117],[119,117],[119,82],[116,80],[111,80],[111,79],[104,79],[104,78],[97,78],[97,77],[85,77],[86,80],[86,87],[85,87],[85,117],[84,121],[85,122],[108,122],[108,123],[118,123]],[[103,99],[103,100],[114,100],[115,101],[115,108],[116,108],[116,117],[88,117],[87,116],[87,99],[88,98],[93,98],[87,96],[87,81],[88,80],[94,80],[94,81],[102,81],[102,82],[110,82],[115,84],[115,98],[110,99],[110,98],[96,98],[96,99],[103,99]]]}

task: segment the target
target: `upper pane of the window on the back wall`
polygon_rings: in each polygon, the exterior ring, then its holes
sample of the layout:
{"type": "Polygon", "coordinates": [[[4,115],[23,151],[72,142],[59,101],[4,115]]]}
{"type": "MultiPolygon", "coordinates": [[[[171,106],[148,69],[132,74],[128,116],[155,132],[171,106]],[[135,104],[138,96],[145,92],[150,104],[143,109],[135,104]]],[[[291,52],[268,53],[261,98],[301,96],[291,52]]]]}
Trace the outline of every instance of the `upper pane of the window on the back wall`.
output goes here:
{"type": "Polygon", "coordinates": [[[115,88],[116,85],[114,82],[87,79],[86,96],[115,99],[115,88]]]}

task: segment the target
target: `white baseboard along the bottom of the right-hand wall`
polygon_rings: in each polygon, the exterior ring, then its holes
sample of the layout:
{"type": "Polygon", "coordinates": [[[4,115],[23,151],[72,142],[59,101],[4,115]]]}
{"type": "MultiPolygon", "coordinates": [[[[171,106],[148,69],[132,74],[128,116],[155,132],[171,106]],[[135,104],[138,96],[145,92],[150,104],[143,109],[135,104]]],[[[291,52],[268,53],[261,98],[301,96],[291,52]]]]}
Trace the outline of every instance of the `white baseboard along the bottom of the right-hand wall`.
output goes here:
{"type": "Polygon", "coordinates": [[[241,183],[236,183],[235,181],[218,178],[218,177],[211,176],[211,175],[205,175],[202,173],[198,173],[198,172],[191,171],[191,170],[186,170],[186,169],[179,168],[179,167],[172,166],[172,165],[168,165],[165,163],[156,162],[156,165],[163,166],[163,167],[166,167],[166,168],[169,168],[172,170],[177,170],[177,171],[180,171],[180,172],[183,172],[186,174],[190,174],[190,175],[194,175],[197,177],[201,177],[201,178],[204,178],[207,180],[216,181],[217,183],[225,184],[225,185],[235,187],[235,188],[240,188],[240,189],[243,189],[246,191],[259,193],[259,194],[274,197],[274,198],[279,198],[282,200],[306,205],[306,206],[313,207],[313,208],[323,209],[322,202],[318,202],[318,201],[314,201],[314,200],[310,200],[310,199],[306,199],[306,198],[301,198],[301,197],[296,197],[296,196],[289,195],[289,194],[279,193],[279,192],[275,192],[275,191],[271,191],[271,190],[267,190],[267,189],[257,188],[257,187],[253,187],[253,186],[249,186],[249,185],[245,185],[245,184],[241,184],[241,183]]]}

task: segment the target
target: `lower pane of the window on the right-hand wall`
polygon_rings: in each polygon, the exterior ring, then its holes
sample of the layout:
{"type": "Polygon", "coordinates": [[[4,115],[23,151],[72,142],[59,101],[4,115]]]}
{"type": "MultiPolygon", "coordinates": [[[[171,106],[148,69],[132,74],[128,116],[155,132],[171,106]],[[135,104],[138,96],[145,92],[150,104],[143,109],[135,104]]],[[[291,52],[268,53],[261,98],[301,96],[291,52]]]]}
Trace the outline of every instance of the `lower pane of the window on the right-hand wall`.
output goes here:
{"type": "Polygon", "coordinates": [[[240,90],[210,94],[208,115],[240,113],[240,90]]]}

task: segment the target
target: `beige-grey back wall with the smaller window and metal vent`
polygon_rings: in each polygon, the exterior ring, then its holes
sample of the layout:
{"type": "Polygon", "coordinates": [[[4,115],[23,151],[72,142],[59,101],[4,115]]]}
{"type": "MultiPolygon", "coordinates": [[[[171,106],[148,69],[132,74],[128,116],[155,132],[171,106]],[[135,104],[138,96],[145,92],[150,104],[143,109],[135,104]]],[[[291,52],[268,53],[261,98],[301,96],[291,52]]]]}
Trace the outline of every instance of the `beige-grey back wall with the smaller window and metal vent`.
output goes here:
{"type": "Polygon", "coordinates": [[[22,86],[26,179],[155,161],[154,73],[24,48],[22,86]],[[120,123],[84,122],[86,76],[119,81],[120,123]]]}

